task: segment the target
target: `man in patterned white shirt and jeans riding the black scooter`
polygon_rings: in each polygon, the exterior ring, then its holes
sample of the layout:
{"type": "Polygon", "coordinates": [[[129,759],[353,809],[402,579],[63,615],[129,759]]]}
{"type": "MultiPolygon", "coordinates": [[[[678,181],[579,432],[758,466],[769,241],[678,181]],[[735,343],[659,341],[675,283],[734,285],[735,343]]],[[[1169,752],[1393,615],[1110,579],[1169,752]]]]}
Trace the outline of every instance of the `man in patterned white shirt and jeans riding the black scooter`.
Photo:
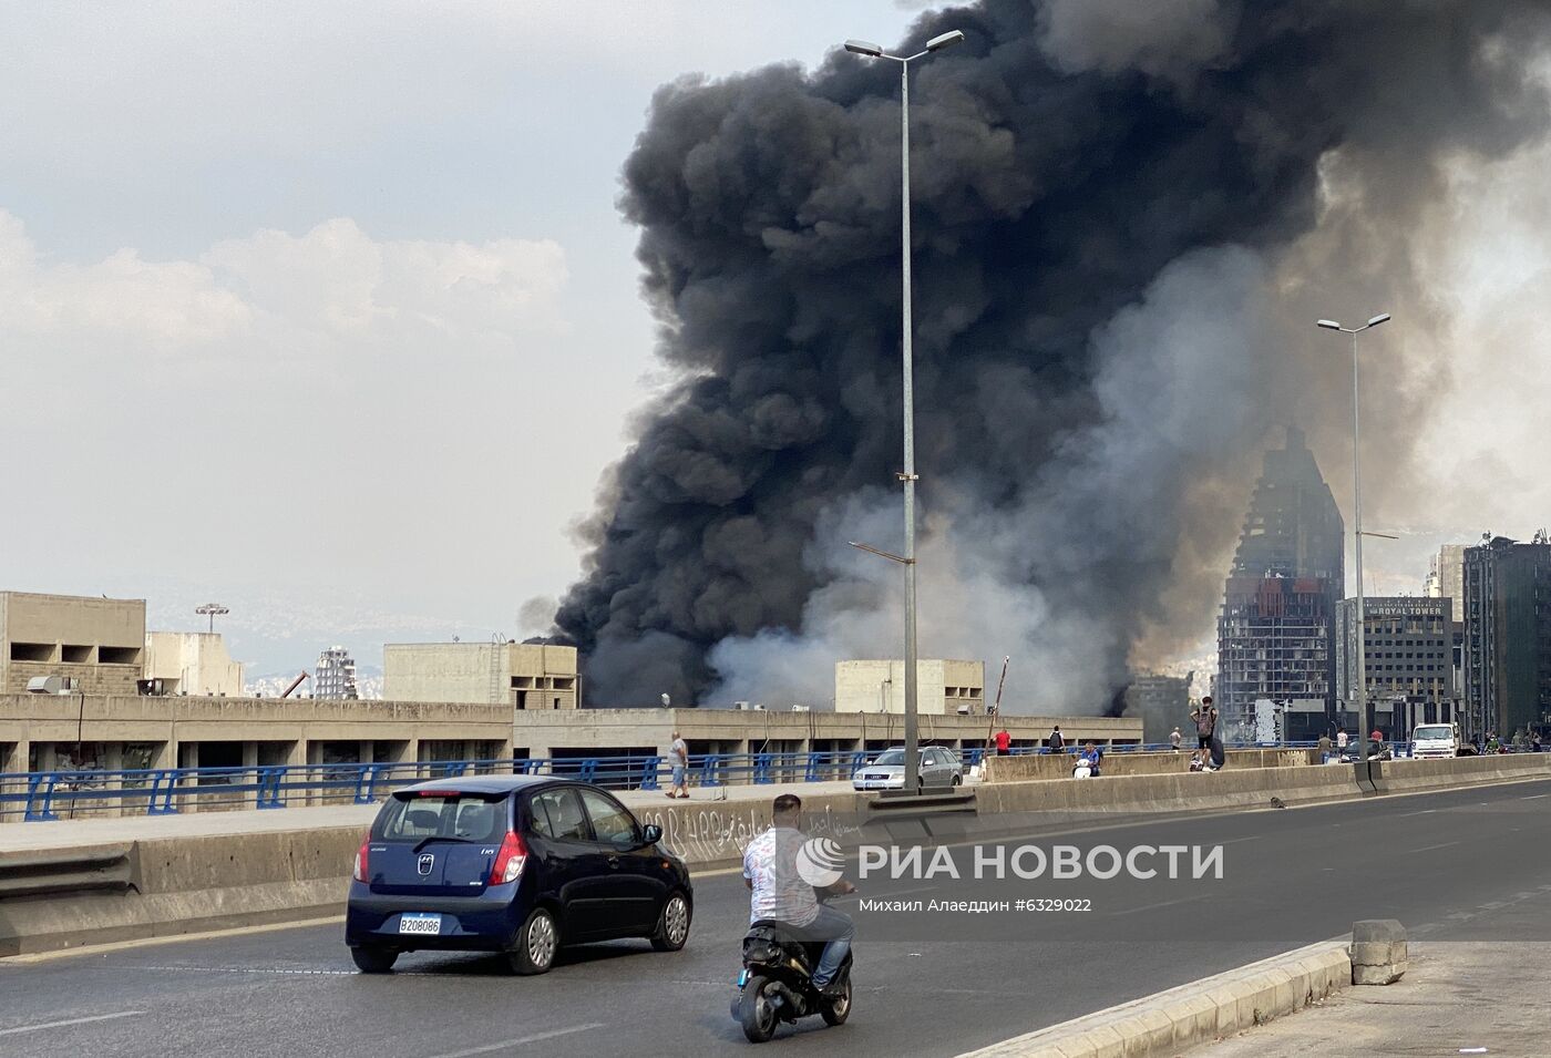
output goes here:
{"type": "MultiPolygon", "coordinates": [[[[813,987],[825,991],[850,951],[856,928],[848,915],[819,903],[816,887],[799,873],[802,799],[782,794],[771,808],[771,828],[749,842],[743,853],[743,884],[749,887],[749,923],[779,921],[803,940],[822,940],[824,956],[813,971],[813,987]]],[[[827,895],[856,892],[838,880],[819,890],[827,895]]]]}

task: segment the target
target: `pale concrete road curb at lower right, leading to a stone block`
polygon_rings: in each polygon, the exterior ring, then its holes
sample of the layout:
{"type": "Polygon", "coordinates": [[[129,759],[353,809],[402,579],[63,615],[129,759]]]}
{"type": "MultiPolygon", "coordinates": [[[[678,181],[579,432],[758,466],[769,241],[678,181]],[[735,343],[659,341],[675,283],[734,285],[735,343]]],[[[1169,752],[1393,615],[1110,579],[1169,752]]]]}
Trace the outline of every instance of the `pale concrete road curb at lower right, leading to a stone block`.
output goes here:
{"type": "Polygon", "coordinates": [[[959,1058],[1173,1058],[1303,1010],[1351,979],[1348,940],[1325,940],[959,1058]]]}

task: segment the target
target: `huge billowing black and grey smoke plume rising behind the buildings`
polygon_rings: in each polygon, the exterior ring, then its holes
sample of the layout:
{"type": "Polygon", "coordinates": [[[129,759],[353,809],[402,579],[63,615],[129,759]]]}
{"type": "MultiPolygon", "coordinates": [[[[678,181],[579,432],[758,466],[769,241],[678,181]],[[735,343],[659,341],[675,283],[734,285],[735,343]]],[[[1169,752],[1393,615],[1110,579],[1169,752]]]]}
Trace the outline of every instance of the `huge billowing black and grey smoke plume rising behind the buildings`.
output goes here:
{"type": "MultiPolygon", "coordinates": [[[[912,74],[923,656],[1010,653],[1035,676],[1013,709],[1098,712],[1177,645],[1221,591],[1258,445],[1349,414],[1311,306],[1424,301],[1404,240],[1365,225],[1421,209],[1447,160],[1543,133],[1548,16],[923,17],[912,40],[968,36],[912,74]]],[[[836,658],[898,655],[896,569],[845,546],[900,540],[896,92],[892,65],[836,54],[655,99],[622,203],[681,382],[558,610],[596,704],[822,703],[836,658]]],[[[1415,402],[1397,385],[1380,427],[1415,402]]]]}

